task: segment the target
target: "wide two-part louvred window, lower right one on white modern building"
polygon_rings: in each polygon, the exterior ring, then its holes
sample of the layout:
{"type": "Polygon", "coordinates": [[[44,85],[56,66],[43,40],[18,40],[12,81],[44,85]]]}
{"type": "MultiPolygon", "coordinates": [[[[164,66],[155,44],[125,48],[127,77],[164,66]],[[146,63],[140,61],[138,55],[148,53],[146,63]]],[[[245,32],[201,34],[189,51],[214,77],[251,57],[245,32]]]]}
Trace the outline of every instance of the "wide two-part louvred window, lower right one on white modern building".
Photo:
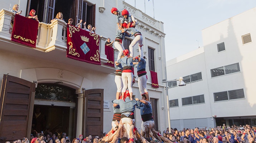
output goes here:
{"type": "Polygon", "coordinates": [[[214,101],[244,99],[245,98],[245,94],[243,92],[243,89],[217,92],[217,93],[213,93],[213,96],[214,96],[214,101]]]}

